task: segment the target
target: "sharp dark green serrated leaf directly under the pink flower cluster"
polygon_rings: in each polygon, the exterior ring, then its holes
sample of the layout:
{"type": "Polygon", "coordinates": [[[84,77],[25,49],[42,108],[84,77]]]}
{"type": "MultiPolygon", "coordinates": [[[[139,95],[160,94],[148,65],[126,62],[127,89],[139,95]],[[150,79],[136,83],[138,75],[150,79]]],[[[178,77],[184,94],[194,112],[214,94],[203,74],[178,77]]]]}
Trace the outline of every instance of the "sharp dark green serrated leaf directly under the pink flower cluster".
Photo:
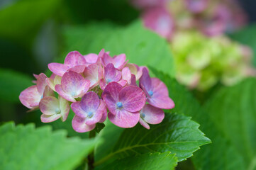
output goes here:
{"type": "Polygon", "coordinates": [[[95,164],[101,164],[111,157],[128,157],[148,152],[171,152],[178,161],[191,157],[199,146],[210,142],[198,128],[199,124],[185,115],[167,113],[159,125],[150,130],[136,125],[123,131],[111,154],[95,164]]]}

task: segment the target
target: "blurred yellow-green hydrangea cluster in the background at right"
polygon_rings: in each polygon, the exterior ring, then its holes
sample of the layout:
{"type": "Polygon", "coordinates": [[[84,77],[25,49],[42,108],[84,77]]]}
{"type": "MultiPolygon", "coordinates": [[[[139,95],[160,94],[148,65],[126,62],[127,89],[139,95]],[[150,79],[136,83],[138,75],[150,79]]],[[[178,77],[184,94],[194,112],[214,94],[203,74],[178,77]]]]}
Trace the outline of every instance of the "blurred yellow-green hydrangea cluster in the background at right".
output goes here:
{"type": "Polygon", "coordinates": [[[224,36],[207,38],[198,32],[179,32],[171,48],[177,80],[190,89],[205,91],[218,81],[230,86],[256,75],[250,48],[224,36]]]}

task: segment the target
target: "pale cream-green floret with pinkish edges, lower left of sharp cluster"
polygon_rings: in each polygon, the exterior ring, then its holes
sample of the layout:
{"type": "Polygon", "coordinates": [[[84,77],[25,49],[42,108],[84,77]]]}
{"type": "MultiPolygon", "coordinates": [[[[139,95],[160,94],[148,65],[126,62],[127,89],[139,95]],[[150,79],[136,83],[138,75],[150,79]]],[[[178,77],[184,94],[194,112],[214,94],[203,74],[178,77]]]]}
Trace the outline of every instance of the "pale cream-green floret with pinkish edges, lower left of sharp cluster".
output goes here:
{"type": "Polygon", "coordinates": [[[41,115],[41,121],[43,123],[50,123],[58,118],[64,122],[69,114],[69,102],[59,96],[55,98],[53,96],[47,96],[41,99],[39,103],[41,115]]]}

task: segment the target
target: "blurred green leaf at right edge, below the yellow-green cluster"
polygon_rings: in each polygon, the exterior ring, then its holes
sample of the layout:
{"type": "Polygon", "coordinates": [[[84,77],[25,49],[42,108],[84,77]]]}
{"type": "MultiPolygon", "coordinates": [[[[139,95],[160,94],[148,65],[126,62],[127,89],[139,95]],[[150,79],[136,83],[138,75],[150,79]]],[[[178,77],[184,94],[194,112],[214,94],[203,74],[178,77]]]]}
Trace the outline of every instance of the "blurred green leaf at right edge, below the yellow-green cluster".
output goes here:
{"type": "Polygon", "coordinates": [[[246,169],[256,169],[256,79],[218,91],[204,106],[218,130],[243,156],[246,169]]]}

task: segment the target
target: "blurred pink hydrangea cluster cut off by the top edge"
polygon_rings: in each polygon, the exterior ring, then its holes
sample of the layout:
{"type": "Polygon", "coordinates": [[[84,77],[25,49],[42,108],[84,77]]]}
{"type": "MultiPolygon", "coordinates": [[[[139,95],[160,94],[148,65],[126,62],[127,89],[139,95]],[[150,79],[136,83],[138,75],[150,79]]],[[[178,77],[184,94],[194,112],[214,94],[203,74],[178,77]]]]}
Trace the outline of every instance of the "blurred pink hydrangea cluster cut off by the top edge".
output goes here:
{"type": "Polygon", "coordinates": [[[144,25],[167,40],[176,30],[200,30],[208,36],[237,30],[247,16],[237,0],[130,0],[142,11],[144,25]]]}

